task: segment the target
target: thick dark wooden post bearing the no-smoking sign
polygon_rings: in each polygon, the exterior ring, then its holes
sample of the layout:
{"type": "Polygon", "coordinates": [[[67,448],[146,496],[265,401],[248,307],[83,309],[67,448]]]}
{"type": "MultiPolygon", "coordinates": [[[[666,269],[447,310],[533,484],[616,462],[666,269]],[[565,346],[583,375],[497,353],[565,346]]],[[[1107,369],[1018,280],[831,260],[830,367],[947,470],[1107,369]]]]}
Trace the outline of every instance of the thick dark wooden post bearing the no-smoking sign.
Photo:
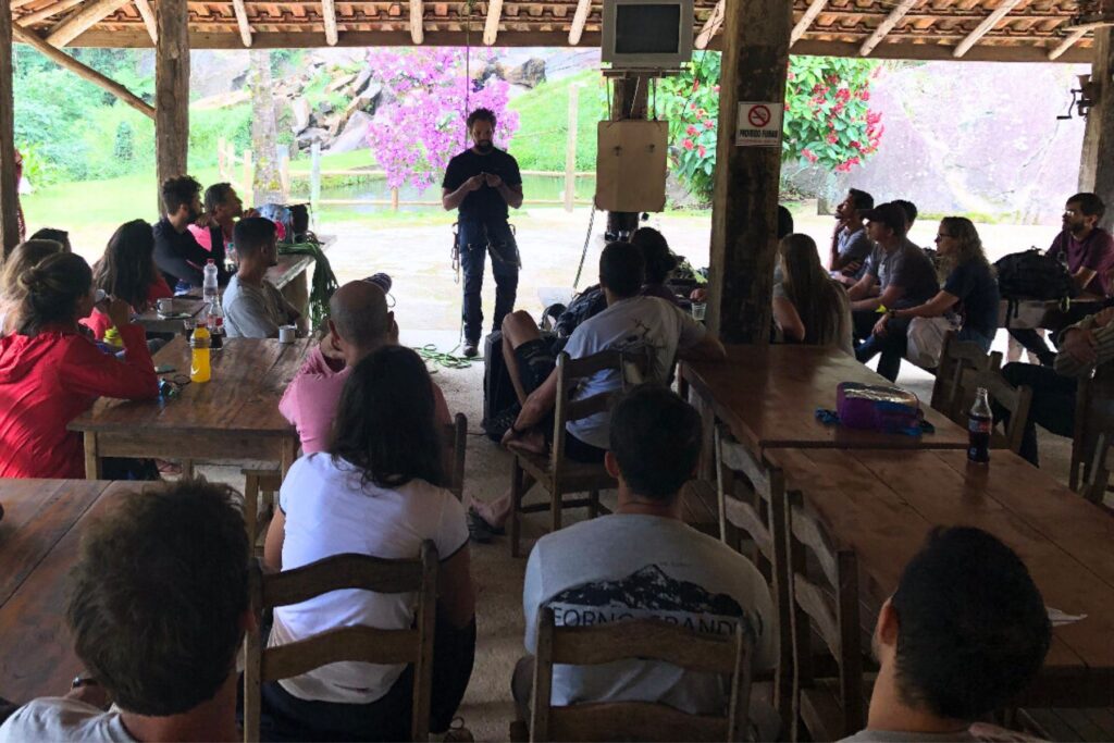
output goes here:
{"type": "Polygon", "coordinates": [[[784,108],[792,21],[792,3],[784,0],[729,0],[707,315],[727,343],[770,340],[781,147],[736,147],[735,127],[740,101],[784,108]]]}

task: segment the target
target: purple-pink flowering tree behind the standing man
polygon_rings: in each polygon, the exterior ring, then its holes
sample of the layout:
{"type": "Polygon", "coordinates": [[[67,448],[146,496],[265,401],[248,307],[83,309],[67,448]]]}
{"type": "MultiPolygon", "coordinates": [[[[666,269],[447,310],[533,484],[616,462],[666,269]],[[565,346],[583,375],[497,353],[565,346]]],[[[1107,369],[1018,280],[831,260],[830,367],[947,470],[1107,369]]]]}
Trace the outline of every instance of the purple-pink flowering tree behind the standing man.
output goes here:
{"type": "MultiPolygon", "coordinates": [[[[488,61],[477,57],[473,75],[488,61]]],[[[518,114],[507,110],[508,84],[495,77],[469,81],[463,49],[370,49],[368,65],[383,86],[384,101],[368,127],[368,144],[392,188],[433,185],[449,159],[469,146],[470,110],[495,111],[497,146],[506,146],[518,129],[518,114]]]]}

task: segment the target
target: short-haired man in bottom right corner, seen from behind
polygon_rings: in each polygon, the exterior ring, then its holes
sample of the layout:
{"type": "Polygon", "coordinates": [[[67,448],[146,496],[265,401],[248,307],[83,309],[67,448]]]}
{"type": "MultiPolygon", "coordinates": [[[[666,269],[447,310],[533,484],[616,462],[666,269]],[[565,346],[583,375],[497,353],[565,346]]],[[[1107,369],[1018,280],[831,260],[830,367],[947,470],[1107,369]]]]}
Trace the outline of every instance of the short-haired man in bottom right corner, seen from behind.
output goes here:
{"type": "Polygon", "coordinates": [[[986,531],[937,527],[878,615],[867,729],[844,741],[974,741],[971,723],[1015,702],[1051,642],[1017,555],[986,531]]]}

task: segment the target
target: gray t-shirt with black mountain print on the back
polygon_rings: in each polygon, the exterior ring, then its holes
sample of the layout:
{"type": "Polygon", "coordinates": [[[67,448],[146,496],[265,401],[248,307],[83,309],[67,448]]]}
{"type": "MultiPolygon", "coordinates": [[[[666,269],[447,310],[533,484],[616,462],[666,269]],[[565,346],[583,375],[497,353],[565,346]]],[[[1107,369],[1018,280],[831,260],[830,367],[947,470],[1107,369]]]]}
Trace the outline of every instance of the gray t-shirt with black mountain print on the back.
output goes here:
{"type": "MultiPolygon", "coordinates": [[[[623,515],[582,521],[543,537],[526,566],[526,649],[537,648],[538,610],[558,626],[659,618],[700,632],[751,636],[752,667],[778,662],[770,589],[754,565],[676,519],[623,515]]],[[[721,714],[730,690],[719,676],[648,661],[554,666],[553,703],[662,702],[721,714]]]]}

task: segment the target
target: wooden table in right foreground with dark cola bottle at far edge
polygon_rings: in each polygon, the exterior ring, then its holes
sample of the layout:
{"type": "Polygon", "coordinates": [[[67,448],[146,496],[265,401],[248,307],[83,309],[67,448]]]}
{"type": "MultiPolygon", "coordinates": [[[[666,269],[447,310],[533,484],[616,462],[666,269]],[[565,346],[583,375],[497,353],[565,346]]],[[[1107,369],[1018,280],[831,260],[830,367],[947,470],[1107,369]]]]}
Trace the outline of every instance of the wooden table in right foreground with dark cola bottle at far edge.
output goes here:
{"type": "Polygon", "coordinates": [[[1114,706],[1114,518],[1008,451],[989,467],[966,452],[781,449],[788,486],[854,549],[872,623],[934,526],[974,526],[1012,547],[1045,603],[1079,622],[1056,627],[1023,706],[1114,706]]]}

